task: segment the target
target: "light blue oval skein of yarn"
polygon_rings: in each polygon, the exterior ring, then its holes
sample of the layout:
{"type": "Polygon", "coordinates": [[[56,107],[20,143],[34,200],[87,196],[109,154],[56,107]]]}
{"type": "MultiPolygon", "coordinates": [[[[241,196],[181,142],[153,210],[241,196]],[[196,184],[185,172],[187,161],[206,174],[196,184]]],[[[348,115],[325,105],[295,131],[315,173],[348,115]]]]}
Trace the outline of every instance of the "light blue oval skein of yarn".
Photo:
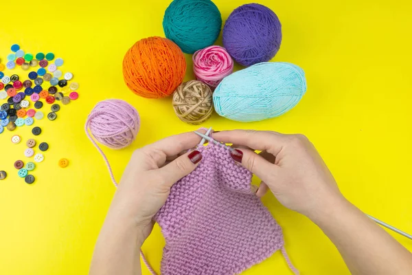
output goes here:
{"type": "Polygon", "coordinates": [[[229,120],[275,118],[296,106],[306,92],[304,70],[291,63],[258,63],[225,78],[216,87],[216,112],[229,120]]]}

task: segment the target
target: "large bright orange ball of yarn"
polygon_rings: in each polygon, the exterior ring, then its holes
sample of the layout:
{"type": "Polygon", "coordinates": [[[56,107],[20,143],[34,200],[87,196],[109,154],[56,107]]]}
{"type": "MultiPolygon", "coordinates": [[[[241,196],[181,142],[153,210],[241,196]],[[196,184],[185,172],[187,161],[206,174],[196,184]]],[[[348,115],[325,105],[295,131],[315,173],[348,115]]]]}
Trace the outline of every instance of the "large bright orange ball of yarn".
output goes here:
{"type": "Polygon", "coordinates": [[[141,39],[126,52],[123,76],[127,87],[144,98],[170,96],[186,73],[185,56],[169,39],[141,39]]]}

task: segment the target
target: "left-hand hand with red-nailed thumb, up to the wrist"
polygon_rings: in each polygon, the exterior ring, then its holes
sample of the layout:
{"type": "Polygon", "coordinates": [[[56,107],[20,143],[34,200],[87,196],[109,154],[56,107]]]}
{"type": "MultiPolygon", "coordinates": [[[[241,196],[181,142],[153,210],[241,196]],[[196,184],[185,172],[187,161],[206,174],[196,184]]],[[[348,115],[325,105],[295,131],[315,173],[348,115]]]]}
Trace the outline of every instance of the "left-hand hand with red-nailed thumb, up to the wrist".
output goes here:
{"type": "Polygon", "coordinates": [[[153,228],[152,217],[163,206],[172,185],[201,161],[194,148],[201,138],[193,132],[173,135],[137,149],[124,170],[109,214],[133,221],[143,242],[153,228]]]}

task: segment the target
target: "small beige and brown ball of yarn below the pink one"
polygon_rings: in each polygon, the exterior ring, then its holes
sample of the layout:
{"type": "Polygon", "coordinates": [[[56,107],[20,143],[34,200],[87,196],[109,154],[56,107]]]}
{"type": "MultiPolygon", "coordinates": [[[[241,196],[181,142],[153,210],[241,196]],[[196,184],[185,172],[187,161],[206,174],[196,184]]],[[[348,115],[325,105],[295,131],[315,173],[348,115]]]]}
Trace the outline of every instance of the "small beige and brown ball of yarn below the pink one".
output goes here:
{"type": "Polygon", "coordinates": [[[181,121],[201,124],[213,112],[211,89],[198,80],[182,83],[173,93],[173,108],[181,121]]]}

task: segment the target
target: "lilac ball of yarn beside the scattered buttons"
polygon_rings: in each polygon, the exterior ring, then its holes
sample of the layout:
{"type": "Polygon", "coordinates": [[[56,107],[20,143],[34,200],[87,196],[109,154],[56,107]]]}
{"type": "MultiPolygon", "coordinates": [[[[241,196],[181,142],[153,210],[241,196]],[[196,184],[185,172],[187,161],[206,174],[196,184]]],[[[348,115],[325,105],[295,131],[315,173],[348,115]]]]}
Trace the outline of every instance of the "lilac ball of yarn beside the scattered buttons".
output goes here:
{"type": "Polygon", "coordinates": [[[86,133],[89,135],[89,128],[91,135],[101,144],[121,149],[135,140],[139,127],[139,113],[132,105],[123,100],[110,99],[98,102],[91,110],[86,122],[86,133]]]}

